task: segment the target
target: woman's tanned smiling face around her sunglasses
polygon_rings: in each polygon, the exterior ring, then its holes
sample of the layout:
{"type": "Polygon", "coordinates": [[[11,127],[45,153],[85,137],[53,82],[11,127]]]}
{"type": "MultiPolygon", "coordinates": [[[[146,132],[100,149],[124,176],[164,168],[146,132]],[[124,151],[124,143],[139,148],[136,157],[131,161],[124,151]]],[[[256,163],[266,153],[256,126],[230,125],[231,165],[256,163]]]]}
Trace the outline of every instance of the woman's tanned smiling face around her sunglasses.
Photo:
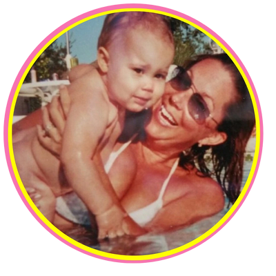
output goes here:
{"type": "Polygon", "coordinates": [[[220,61],[200,61],[188,70],[188,75],[192,81],[188,90],[179,91],[172,82],[166,83],[165,94],[152,108],[152,119],[146,126],[148,139],[164,140],[179,150],[200,141],[207,144],[206,138],[217,133],[215,121],[221,122],[224,108],[235,99],[234,83],[220,61]],[[207,117],[203,124],[197,122],[189,103],[195,92],[204,99],[215,121],[207,117]]]}

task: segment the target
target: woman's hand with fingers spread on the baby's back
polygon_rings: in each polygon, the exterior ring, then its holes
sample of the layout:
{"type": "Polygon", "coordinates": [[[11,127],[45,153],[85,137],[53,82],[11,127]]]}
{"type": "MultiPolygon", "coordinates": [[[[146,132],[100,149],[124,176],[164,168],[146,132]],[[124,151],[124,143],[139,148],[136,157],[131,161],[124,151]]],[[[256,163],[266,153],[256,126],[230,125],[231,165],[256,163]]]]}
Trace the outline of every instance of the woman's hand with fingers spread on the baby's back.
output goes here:
{"type": "Polygon", "coordinates": [[[66,86],[59,88],[59,97],[53,97],[50,108],[42,109],[43,127],[37,126],[40,144],[59,158],[61,141],[70,108],[70,97],[66,86]]]}

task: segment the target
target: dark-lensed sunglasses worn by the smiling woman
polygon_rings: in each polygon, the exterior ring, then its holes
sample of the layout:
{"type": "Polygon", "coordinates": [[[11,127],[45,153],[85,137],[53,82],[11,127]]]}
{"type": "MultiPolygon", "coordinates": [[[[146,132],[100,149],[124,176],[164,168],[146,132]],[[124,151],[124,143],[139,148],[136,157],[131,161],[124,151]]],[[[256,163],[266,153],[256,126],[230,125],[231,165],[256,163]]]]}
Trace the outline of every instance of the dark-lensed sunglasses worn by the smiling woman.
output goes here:
{"type": "MultiPolygon", "coordinates": [[[[188,72],[177,66],[175,70],[172,71],[172,79],[170,79],[170,84],[172,88],[177,91],[185,91],[192,88],[193,82],[188,75],[188,72]]],[[[192,88],[193,90],[193,88],[192,88]]],[[[211,118],[218,125],[219,123],[213,118],[208,109],[207,103],[204,98],[193,90],[193,95],[190,96],[188,101],[188,112],[190,116],[197,122],[197,124],[205,124],[206,119],[211,118]]]]}

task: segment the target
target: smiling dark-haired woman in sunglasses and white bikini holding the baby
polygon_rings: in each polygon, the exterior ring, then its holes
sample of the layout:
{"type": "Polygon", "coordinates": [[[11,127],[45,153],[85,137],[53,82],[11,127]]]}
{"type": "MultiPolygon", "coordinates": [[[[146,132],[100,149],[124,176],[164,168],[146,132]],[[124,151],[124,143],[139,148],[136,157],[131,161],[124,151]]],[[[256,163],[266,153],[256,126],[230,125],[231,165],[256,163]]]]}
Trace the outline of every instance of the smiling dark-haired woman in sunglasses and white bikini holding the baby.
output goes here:
{"type": "MultiPolygon", "coordinates": [[[[224,208],[224,193],[235,202],[255,124],[246,84],[227,55],[200,57],[190,63],[188,75],[178,71],[152,108],[145,139],[121,152],[108,175],[121,206],[146,231],[214,215],[224,208]],[[206,150],[218,183],[204,160],[206,150]]],[[[56,126],[63,124],[57,121],[56,126]]],[[[48,132],[50,137],[57,133],[56,128],[48,132]]],[[[48,137],[41,142],[48,146],[48,137]]]]}

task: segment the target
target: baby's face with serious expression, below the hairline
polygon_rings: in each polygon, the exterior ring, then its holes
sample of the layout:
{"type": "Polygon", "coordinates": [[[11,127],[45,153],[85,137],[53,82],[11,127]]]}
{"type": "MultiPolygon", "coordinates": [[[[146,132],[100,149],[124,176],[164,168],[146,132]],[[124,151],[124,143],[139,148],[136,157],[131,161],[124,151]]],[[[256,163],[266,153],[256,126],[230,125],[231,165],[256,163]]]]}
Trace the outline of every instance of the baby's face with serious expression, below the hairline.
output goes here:
{"type": "Polygon", "coordinates": [[[134,29],[108,48],[107,85],[110,99],[139,112],[163,95],[174,46],[147,30],[134,29]]]}

